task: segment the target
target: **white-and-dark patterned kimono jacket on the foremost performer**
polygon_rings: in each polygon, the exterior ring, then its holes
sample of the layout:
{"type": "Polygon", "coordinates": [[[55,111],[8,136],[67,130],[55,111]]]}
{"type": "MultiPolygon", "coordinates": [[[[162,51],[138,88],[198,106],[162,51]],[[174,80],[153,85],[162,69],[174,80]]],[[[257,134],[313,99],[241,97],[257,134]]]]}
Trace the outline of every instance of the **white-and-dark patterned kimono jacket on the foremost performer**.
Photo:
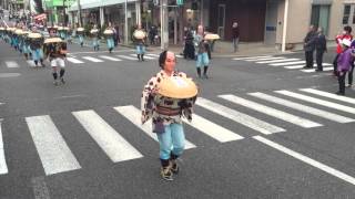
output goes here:
{"type": "MultiPolygon", "coordinates": [[[[173,72],[172,76],[186,77],[186,74],[182,72],[173,72]]],[[[191,122],[192,105],[196,101],[196,96],[178,100],[154,94],[152,91],[156,88],[158,83],[165,77],[169,77],[168,74],[163,70],[160,71],[148,82],[142,93],[142,123],[144,124],[148,119],[152,118],[154,133],[163,133],[163,125],[170,125],[172,123],[182,124],[182,116],[191,122]]]]}

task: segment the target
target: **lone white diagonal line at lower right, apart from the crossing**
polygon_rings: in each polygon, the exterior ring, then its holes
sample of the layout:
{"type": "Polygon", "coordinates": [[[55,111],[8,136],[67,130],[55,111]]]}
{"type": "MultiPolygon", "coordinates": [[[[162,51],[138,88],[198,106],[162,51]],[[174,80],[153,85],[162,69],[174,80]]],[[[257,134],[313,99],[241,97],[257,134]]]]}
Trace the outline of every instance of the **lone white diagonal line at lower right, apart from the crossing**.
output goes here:
{"type": "Polygon", "coordinates": [[[287,154],[288,156],[292,156],[292,157],[294,157],[294,158],[296,158],[296,159],[298,159],[298,160],[301,160],[303,163],[306,163],[306,164],[308,164],[308,165],[311,165],[311,166],[313,166],[315,168],[318,168],[318,169],[321,169],[321,170],[323,170],[323,171],[325,171],[325,172],[327,172],[327,174],[329,174],[332,176],[335,176],[335,177],[337,177],[337,178],[339,178],[339,179],[342,179],[344,181],[347,181],[349,184],[355,185],[355,178],[352,177],[352,176],[348,176],[348,175],[346,175],[346,174],[344,174],[344,172],[342,172],[339,170],[336,170],[336,169],[334,169],[332,167],[328,167],[328,166],[326,166],[326,165],[324,165],[324,164],[322,164],[320,161],[311,159],[311,158],[308,158],[308,157],[306,157],[306,156],[304,156],[304,155],[302,155],[300,153],[291,150],[291,149],[288,149],[288,148],[286,148],[284,146],[282,146],[282,145],[280,145],[277,143],[274,143],[274,142],[270,140],[270,139],[266,139],[266,138],[264,138],[262,136],[254,136],[253,138],[258,140],[258,142],[261,142],[261,143],[263,143],[263,144],[265,144],[265,145],[267,145],[267,146],[270,146],[270,147],[272,147],[272,148],[275,148],[275,149],[277,149],[277,150],[280,150],[280,151],[282,151],[284,154],[287,154]]]}

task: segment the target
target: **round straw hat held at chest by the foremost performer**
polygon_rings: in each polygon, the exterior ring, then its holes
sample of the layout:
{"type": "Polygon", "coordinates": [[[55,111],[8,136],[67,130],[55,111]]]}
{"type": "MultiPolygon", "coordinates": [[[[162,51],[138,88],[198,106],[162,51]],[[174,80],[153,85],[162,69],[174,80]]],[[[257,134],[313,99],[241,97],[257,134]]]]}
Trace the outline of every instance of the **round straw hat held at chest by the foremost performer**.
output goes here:
{"type": "Polygon", "coordinates": [[[158,84],[158,93],[171,98],[191,98],[197,95],[197,86],[191,78],[171,76],[158,84]]]}

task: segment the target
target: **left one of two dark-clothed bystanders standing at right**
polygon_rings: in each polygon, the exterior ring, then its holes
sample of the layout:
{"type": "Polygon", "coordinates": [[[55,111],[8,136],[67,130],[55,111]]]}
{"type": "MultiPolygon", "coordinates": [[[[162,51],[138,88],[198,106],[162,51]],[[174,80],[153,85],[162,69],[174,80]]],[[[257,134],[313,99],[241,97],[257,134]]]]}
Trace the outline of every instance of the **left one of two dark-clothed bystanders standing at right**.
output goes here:
{"type": "Polygon", "coordinates": [[[310,27],[310,32],[304,38],[304,52],[305,52],[305,59],[306,59],[306,65],[304,69],[312,69],[313,67],[313,54],[315,50],[315,41],[316,41],[316,29],[314,25],[310,27]]]}

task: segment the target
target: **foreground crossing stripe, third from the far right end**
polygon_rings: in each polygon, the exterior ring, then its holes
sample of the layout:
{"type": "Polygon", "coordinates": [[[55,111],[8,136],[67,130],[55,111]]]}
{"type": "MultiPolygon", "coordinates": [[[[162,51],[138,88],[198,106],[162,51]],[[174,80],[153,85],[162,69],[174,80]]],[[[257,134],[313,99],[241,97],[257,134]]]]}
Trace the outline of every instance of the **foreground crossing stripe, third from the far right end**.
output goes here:
{"type": "Polygon", "coordinates": [[[275,104],[278,104],[278,105],[283,105],[283,106],[286,106],[286,107],[290,107],[290,108],[293,108],[293,109],[297,109],[300,112],[304,112],[304,113],[307,113],[307,114],[311,114],[311,115],[315,115],[315,116],[323,117],[323,118],[326,118],[326,119],[329,119],[329,121],[334,121],[334,122],[337,122],[337,123],[352,123],[352,122],[355,122],[355,119],[349,118],[349,117],[344,117],[342,115],[333,114],[331,112],[326,112],[326,111],[314,108],[314,107],[306,106],[306,105],[303,105],[303,104],[294,103],[294,102],[291,102],[291,101],[287,101],[287,100],[283,100],[283,98],[280,98],[280,97],[275,97],[275,96],[272,96],[272,95],[267,95],[267,94],[264,94],[264,93],[256,92],[256,93],[248,93],[248,95],[252,95],[254,97],[257,97],[257,98],[261,98],[261,100],[264,100],[264,101],[267,101],[267,102],[272,102],[272,103],[275,103],[275,104]]]}

